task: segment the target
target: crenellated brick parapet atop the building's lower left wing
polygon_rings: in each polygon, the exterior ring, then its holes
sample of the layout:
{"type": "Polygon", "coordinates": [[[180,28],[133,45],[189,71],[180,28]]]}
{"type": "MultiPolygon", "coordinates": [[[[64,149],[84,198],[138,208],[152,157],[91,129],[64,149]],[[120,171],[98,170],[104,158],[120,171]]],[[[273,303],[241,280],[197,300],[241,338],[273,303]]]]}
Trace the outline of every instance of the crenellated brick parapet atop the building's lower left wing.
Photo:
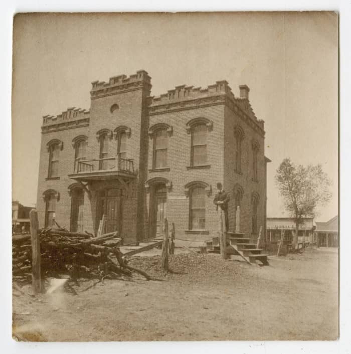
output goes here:
{"type": "Polygon", "coordinates": [[[66,111],[54,115],[43,116],[42,132],[58,131],[89,125],[90,111],[70,107],[66,111]]]}

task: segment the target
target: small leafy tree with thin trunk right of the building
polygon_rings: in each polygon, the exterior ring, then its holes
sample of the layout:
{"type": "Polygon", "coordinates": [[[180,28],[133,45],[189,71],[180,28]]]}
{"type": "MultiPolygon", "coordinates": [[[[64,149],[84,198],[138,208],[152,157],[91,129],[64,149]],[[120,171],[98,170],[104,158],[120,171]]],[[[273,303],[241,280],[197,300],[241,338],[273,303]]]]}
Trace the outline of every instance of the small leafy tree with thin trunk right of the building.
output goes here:
{"type": "Polygon", "coordinates": [[[330,200],[331,181],[320,164],[296,166],[290,158],[285,158],[278,167],[275,181],[283,197],[284,207],[295,222],[293,245],[296,245],[302,218],[315,217],[316,207],[330,200]]]}

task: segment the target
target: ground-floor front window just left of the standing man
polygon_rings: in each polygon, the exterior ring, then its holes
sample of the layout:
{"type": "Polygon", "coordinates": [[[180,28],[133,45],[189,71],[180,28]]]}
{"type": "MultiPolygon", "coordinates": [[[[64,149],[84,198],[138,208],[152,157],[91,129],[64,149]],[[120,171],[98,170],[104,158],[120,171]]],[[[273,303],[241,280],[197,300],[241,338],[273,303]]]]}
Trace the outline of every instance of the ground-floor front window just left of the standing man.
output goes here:
{"type": "Polygon", "coordinates": [[[190,230],[205,229],[206,193],[205,188],[195,187],[190,191],[190,230]]]}

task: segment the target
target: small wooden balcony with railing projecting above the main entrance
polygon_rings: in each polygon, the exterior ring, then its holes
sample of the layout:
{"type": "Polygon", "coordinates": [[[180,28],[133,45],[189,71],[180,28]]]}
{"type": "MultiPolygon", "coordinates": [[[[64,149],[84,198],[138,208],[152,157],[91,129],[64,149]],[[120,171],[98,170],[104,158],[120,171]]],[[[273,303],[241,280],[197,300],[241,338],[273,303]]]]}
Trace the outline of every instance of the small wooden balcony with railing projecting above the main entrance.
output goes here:
{"type": "Polygon", "coordinates": [[[134,179],[133,160],[121,157],[94,158],[76,160],[74,171],[69,178],[80,182],[115,180],[118,178],[134,179]]]}

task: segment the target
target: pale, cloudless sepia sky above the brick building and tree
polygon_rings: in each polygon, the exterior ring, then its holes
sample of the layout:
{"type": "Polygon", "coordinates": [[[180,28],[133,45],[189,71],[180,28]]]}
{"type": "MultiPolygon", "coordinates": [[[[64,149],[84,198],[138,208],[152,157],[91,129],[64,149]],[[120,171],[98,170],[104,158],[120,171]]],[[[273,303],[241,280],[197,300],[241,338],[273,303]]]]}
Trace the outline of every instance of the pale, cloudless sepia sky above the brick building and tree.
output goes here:
{"type": "Polygon", "coordinates": [[[267,215],[287,215],[274,182],[285,157],[322,164],[338,205],[338,24],[334,13],[30,14],[14,23],[13,199],[36,203],[42,116],[89,109],[91,82],[151,76],[151,94],[227,80],[265,121],[267,215]]]}

